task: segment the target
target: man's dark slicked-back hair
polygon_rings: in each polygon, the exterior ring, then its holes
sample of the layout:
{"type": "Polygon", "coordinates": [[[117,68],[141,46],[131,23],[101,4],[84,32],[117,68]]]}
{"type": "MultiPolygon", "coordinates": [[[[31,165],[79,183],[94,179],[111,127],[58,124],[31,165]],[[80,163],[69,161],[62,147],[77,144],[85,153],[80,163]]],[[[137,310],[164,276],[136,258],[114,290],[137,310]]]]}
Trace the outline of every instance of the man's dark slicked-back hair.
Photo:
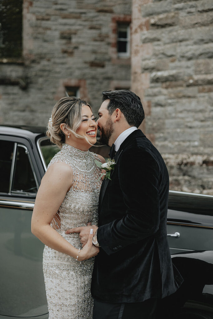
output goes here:
{"type": "Polygon", "coordinates": [[[119,108],[129,125],[139,127],[144,119],[144,110],[139,96],[129,90],[103,91],[102,94],[102,101],[110,99],[107,106],[110,115],[119,108]]]}

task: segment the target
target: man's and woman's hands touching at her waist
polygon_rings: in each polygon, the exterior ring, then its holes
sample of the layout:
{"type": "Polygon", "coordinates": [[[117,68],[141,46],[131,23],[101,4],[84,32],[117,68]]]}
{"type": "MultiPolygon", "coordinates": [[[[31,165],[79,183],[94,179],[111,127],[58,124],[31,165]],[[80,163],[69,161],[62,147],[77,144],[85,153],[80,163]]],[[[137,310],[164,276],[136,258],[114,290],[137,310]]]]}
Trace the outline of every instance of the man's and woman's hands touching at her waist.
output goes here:
{"type": "Polygon", "coordinates": [[[96,256],[99,253],[99,248],[95,247],[92,243],[92,237],[94,236],[98,227],[91,224],[92,223],[89,222],[87,223],[87,226],[71,228],[65,232],[65,234],[79,233],[82,248],[85,246],[84,249],[81,250],[79,261],[89,259],[90,257],[96,256]],[[91,228],[93,229],[92,235],[90,234],[91,228]]]}

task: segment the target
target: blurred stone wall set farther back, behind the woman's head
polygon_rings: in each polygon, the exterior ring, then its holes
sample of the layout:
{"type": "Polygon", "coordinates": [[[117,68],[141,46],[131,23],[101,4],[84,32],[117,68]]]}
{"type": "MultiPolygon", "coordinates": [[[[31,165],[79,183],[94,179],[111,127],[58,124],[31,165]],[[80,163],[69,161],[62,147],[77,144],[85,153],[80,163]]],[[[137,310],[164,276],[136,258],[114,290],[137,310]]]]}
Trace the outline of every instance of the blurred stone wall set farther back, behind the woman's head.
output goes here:
{"type": "Polygon", "coordinates": [[[22,58],[0,58],[0,123],[46,125],[67,85],[95,113],[102,91],[130,88],[117,21],[131,21],[131,0],[24,0],[22,58]]]}

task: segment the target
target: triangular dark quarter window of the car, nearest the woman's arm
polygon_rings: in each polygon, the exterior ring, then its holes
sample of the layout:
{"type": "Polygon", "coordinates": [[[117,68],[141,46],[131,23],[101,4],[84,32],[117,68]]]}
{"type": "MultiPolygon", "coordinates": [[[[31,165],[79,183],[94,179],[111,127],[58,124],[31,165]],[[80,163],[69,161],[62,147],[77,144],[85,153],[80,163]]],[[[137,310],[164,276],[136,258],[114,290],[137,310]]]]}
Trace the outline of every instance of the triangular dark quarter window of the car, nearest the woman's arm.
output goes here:
{"type": "Polygon", "coordinates": [[[37,193],[37,186],[34,174],[26,149],[22,146],[17,147],[13,184],[11,191],[37,193]]]}

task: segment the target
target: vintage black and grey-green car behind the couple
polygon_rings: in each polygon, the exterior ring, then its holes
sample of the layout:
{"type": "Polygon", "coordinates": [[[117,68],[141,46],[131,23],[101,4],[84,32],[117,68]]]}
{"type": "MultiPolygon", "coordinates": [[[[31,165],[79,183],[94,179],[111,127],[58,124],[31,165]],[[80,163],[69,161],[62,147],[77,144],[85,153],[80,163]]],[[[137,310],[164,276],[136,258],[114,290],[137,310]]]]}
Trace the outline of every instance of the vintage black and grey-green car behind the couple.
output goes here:
{"type": "MultiPolygon", "coordinates": [[[[0,126],[0,318],[48,318],[44,245],[30,226],[42,176],[58,151],[44,130],[0,126]]],[[[159,318],[213,318],[213,196],[170,191],[167,224],[184,283],[162,301],[159,318]]]]}

